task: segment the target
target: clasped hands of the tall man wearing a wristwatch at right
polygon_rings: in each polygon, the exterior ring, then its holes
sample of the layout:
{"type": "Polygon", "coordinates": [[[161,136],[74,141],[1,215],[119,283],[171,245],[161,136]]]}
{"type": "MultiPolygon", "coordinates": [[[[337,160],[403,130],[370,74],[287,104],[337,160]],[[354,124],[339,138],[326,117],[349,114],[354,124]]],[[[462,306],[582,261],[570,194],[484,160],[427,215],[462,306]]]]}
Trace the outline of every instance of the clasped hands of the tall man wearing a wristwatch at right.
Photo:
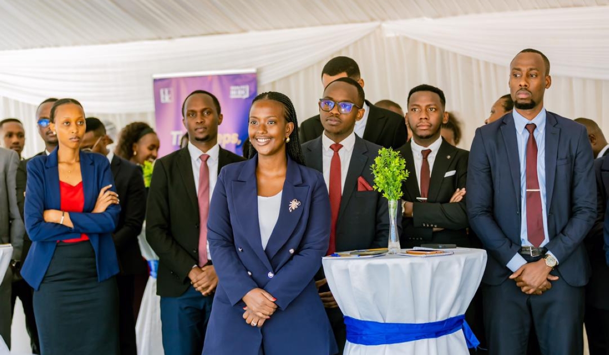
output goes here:
{"type": "Polygon", "coordinates": [[[510,275],[510,279],[516,281],[516,286],[527,295],[541,295],[552,288],[550,281],[558,279],[558,276],[550,275],[551,271],[552,268],[546,265],[546,261],[540,259],[522,265],[510,275]]]}

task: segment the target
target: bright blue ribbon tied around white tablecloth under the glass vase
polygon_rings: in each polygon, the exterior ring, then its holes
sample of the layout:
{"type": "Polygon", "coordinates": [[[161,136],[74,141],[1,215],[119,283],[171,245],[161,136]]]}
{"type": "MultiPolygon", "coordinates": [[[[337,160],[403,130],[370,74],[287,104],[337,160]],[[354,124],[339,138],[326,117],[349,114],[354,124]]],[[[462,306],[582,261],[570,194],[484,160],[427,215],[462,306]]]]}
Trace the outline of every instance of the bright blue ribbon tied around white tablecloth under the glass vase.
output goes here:
{"type": "Polygon", "coordinates": [[[435,339],[463,330],[467,347],[477,348],[480,342],[465,322],[465,315],[430,323],[379,323],[345,316],[347,340],[359,345],[388,345],[435,339]]]}

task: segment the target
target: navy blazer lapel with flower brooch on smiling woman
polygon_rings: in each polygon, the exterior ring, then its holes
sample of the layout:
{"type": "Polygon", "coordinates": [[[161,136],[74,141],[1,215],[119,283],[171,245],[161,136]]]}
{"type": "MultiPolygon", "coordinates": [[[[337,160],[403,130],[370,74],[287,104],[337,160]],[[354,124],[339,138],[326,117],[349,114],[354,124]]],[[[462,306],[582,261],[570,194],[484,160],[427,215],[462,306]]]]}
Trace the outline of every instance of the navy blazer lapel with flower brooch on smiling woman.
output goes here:
{"type": "MultiPolygon", "coordinates": [[[[292,232],[298,225],[298,221],[307,209],[309,200],[309,186],[303,185],[302,176],[298,163],[291,158],[287,158],[286,181],[283,183],[283,192],[281,194],[281,205],[279,209],[279,218],[273,228],[273,233],[270,235],[269,243],[266,247],[266,255],[269,260],[272,260],[277,251],[286,244],[287,240],[292,236],[292,232]],[[300,205],[297,203],[300,202],[300,205]],[[290,207],[295,207],[290,210],[290,207]]],[[[257,205],[257,203],[256,203],[257,205]]],[[[258,214],[256,214],[258,216],[258,214]]]]}

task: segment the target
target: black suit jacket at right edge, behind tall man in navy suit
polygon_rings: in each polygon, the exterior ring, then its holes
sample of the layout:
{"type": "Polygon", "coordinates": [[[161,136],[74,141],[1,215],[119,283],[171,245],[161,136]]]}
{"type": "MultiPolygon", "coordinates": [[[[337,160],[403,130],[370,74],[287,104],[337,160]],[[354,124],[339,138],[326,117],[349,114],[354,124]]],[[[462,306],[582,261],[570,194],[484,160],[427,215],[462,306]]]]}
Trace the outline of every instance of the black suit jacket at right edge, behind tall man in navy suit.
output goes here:
{"type": "Polygon", "coordinates": [[[598,214],[596,222],[583,241],[592,265],[592,274],[586,286],[586,302],[594,308],[609,310],[609,266],[603,249],[603,226],[609,197],[609,155],[603,155],[594,161],[594,173],[598,214]]]}

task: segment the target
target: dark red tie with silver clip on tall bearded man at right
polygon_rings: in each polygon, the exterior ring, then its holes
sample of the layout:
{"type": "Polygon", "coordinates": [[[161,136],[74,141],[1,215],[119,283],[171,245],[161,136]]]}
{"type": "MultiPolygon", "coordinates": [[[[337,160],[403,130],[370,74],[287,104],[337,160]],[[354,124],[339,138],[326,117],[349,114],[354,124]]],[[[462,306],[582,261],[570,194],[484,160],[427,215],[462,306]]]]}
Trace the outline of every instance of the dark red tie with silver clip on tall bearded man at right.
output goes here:
{"type": "Polygon", "coordinates": [[[537,178],[537,142],[533,131],[535,124],[525,126],[529,131],[527,141],[527,237],[533,247],[538,248],[545,239],[541,212],[541,191],[537,178]]]}

